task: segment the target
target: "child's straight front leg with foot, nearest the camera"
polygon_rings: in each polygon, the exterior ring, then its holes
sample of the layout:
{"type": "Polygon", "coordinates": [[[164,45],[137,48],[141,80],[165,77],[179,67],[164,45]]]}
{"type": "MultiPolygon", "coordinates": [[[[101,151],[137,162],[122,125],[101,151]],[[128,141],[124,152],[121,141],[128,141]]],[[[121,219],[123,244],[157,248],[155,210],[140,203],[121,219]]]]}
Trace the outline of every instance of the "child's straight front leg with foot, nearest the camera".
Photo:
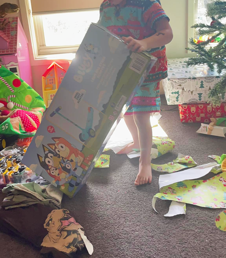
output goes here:
{"type": "Polygon", "coordinates": [[[139,172],[135,180],[135,185],[152,182],[152,169],[150,153],[152,149],[152,126],[150,114],[133,115],[138,130],[140,144],[139,172]]]}

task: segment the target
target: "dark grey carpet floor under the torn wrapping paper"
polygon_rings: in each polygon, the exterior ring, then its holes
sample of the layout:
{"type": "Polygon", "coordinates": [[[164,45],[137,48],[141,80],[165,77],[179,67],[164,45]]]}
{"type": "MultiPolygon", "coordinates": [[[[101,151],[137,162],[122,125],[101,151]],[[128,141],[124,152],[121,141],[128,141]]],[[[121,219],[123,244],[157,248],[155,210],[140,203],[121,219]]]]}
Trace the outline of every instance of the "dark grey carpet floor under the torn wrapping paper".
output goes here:
{"type": "MultiPolygon", "coordinates": [[[[163,101],[164,103],[164,101],[163,101]]],[[[174,106],[162,105],[164,109],[174,106]]],[[[200,124],[182,124],[179,112],[162,111],[160,125],[176,141],[176,148],[156,160],[164,164],[178,153],[191,155],[198,164],[212,162],[208,155],[226,152],[226,140],[195,133],[200,124]]],[[[138,159],[110,154],[110,168],[94,169],[87,186],[73,199],[63,198],[63,208],[75,214],[94,245],[93,258],[208,258],[225,257],[226,232],[215,227],[221,209],[187,205],[187,214],[165,218],[169,202],[159,201],[153,211],[152,197],[159,192],[160,173],[151,185],[134,187],[138,159]]],[[[210,178],[211,175],[208,175],[210,178]]],[[[43,257],[33,246],[0,233],[2,257],[43,257]]],[[[84,252],[80,257],[89,257],[84,252]]]]}

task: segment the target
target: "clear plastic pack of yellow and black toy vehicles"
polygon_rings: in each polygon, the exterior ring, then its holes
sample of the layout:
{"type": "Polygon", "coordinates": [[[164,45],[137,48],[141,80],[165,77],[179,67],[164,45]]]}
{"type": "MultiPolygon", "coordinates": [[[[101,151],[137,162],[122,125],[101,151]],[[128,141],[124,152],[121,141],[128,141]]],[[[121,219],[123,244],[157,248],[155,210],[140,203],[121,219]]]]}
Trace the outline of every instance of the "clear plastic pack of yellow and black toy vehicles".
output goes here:
{"type": "Polygon", "coordinates": [[[27,148],[18,144],[0,151],[0,189],[10,183],[27,183],[40,178],[22,163],[27,148]]]}

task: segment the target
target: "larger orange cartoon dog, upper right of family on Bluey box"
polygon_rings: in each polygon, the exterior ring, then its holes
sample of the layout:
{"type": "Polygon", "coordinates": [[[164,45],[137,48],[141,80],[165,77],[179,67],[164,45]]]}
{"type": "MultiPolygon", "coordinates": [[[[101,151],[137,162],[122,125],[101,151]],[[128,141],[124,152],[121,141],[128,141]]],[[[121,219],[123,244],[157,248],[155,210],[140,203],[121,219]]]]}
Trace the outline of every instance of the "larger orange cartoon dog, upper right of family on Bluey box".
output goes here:
{"type": "Polygon", "coordinates": [[[55,143],[49,143],[48,146],[54,150],[61,157],[70,160],[72,169],[75,171],[77,166],[81,167],[84,171],[87,171],[91,164],[93,155],[84,157],[84,154],[77,148],[73,147],[70,142],[61,137],[53,137],[52,140],[55,143]]]}

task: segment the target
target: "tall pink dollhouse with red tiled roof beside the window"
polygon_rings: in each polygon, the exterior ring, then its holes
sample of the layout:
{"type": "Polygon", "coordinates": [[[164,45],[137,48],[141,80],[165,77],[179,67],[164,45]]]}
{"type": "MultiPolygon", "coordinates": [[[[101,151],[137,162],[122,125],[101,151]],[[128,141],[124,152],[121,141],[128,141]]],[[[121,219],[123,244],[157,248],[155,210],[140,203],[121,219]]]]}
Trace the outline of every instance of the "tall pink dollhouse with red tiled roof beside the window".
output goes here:
{"type": "Polygon", "coordinates": [[[28,41],[18,17],[0,18],[9,24],[0,30],[0,64],[33,87],[28,41]]]}

